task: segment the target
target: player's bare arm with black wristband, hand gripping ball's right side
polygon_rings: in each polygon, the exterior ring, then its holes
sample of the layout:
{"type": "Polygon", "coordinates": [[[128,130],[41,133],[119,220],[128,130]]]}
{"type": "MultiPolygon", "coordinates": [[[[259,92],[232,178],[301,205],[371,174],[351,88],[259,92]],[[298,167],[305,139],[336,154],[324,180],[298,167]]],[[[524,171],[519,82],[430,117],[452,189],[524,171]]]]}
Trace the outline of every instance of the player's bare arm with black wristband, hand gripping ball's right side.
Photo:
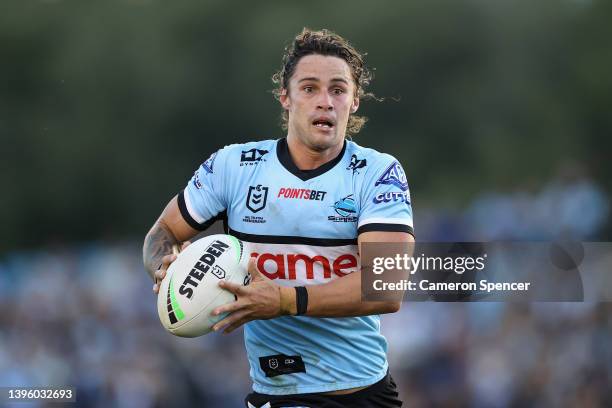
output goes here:
{"type": "MultiPolygon", "coordinates": [[[[359,247],[366,242],[414,242],[414,237],[405,232],[370,231],[359,235],[359,247]]],[[[360,251],[361,253],[361,251],[360,251]]],[[[254,262],[249,264],[253,280],[249,286],[240,286],[221,281],[219,285],[234,293],[238,300],[215,309],[213,314],[230,312],[230,315],[213,326],[218,331],[225,328],[229,333],[244,323],[255,319],[271,319],[283,315],[295,315],[296,290],[280,286],[264,277],[254,262]]],[[[307,286],[308,307],[306,316],[350,317],[382,313],[394,313],[401,302],[364,302],[361,300],[361,271],[355,271],[340,279],[321,285],[307,286]]]]}

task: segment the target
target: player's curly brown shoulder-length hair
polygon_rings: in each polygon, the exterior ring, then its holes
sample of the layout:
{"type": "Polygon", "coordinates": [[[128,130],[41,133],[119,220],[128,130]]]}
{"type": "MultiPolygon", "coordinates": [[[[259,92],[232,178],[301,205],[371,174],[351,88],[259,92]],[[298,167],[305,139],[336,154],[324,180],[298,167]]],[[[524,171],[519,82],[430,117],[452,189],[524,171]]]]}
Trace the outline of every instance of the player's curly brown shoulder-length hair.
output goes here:
{"type": "MultiPolygon", "coordinates": [[[[304,28],[302,32],[295,37],[293,43],[285,47],[283,65],[280,71],[272,75],[272,82],[276,85],[272,93],[277,100],[280,98],[283,89],[289,89],[289,80],[295,72],[295,67],[300,59],[311,54],[342,58],[351,68],[359,99],[376,98],[374,94],[365,91],[365,88],[372,80],[372,73],[364,63],[363,57],[365,53],[360,53],[355,47],[349,44],[346,39],[330,30],[322,29],[313,31],[309,28],[304,28]]],[[[357,134],[367,120],[368,118],[365,116],[351,114],[346,127],[346,134],[348,136],[357,134]]],[[[288,121],[289,115],[287,111],[283,109],[281,115],[281,126],[283,130],[287,130],[288,121]]]]}

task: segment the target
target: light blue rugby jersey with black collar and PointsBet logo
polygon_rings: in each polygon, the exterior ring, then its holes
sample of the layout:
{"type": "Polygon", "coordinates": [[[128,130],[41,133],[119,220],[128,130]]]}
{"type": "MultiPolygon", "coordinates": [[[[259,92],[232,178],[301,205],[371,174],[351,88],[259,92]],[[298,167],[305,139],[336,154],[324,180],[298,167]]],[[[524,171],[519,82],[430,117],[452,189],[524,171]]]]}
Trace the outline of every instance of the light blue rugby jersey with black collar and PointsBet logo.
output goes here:
{"type": "MultiPolygon", "coordinates": [[[[227,146],[179,196],[185,220],[203,230],[223,219],[249,242],[262,274],[285,286],[318,285],[359,268],[357,236],[413,233],[406,175],[390,155],[346,141],[340,155],[299,170],[286,139],[227,146]]],[[[373,384],[387,372],[376,316],[285,316],[245,325],[253,390],[326,392],[373,384]]]]}

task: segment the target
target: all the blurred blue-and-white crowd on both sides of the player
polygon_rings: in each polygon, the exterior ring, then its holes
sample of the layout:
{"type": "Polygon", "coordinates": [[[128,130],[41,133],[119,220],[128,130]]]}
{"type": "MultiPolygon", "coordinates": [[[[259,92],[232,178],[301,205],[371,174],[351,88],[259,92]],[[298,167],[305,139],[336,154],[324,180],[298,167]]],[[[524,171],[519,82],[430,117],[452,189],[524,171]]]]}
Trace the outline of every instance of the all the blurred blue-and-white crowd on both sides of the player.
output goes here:
{"type": "MultiPolygon", "coordinates": [[[[419,214],[417,232],[589,239],[607,211],[593,182],[560,178],[535,194],[484,194],[452,222],[419,214]]],[[[138,243],[11,253],[0,308],[0,386],[70,385],[85,407],[240,407],[250,392],[241,330],[163,330],[138,243]]],[[[612,406],[610,303],[411,302],[382,331],[408,407],[612,406]]]]}

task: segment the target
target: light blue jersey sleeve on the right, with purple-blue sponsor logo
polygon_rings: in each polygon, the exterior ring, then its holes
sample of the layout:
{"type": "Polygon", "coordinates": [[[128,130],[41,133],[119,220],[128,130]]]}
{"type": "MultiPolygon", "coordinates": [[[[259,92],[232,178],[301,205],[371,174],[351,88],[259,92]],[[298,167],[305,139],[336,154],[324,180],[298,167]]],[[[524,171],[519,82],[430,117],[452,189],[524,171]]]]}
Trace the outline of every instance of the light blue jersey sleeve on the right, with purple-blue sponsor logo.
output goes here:
{"type": "Polygon", "coordinates": [[[407,232],[414,236],[406,173],[390,155],[382,155],[364,180],[357,231],[407,232]]]}

